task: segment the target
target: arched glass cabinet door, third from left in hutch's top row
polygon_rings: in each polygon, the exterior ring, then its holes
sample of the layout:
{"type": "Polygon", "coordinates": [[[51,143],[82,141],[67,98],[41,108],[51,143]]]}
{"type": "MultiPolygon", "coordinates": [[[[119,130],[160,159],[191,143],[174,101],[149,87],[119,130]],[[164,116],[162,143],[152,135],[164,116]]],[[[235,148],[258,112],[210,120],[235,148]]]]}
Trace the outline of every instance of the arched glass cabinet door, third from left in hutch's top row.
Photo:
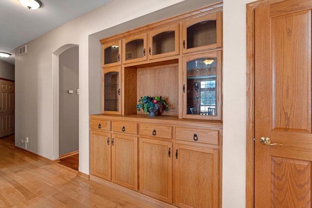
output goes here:
{"type": "Polygon", "coordinates": [[[149,32],[149,59],[179,54],[179,24],[149,32]]]}

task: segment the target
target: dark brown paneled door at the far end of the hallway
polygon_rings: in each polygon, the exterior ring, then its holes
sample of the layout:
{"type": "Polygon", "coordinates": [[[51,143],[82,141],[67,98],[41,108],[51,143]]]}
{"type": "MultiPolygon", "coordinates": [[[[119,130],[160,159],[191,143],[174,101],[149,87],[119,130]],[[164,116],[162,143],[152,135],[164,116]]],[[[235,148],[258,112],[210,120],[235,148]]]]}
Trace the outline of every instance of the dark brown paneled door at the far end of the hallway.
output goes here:
{"type": "Polygon", "coordinates": [[[0,137],[14,133],[14,91],[14,82],[0,79],[0,137]]]}

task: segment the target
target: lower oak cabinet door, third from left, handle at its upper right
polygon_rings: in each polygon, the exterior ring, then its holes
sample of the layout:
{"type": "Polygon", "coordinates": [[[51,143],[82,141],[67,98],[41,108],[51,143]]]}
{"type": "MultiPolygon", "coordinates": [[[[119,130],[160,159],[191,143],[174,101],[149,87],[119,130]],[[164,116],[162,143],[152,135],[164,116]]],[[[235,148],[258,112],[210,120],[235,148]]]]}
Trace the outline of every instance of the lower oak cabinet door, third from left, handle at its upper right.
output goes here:
{"type": "Polygon", "coordinates": [[[172,142],[139,139],[139,192],[172,203],[172,142]]]}

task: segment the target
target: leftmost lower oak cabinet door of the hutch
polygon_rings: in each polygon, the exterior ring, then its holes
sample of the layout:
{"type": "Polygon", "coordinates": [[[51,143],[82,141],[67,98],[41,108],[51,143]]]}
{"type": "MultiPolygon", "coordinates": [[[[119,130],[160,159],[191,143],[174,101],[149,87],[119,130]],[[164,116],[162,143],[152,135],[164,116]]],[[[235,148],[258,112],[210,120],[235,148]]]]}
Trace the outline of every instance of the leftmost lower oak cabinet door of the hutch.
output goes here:
{"type": "Polygon", "coordinates": [[[91,174],[111,180],[111,133],[91,131],[91,174]]]}

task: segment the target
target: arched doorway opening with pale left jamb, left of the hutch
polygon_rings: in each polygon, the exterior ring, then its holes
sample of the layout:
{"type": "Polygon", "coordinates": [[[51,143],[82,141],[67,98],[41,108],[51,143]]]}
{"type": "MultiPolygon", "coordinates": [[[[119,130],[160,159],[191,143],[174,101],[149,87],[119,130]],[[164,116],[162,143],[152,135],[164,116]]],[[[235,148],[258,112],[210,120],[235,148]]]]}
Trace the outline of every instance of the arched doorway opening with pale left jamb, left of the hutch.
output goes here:
{"type": "Polygon", "coordinates": [[[53,157],[78,152],[78,45],[53,53],[53,157]]]}

